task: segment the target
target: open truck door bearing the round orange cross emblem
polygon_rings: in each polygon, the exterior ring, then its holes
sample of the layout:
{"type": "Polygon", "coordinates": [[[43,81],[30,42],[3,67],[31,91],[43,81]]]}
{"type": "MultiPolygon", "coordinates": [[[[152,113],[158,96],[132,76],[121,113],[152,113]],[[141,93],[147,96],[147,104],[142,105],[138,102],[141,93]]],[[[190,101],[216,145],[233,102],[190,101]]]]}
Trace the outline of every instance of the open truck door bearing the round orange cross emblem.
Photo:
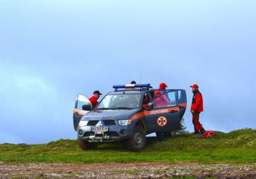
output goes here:
{"type": "Polygon", "coordinates": [[[179,102],[177,90],[162,91],[152,101],[154,108],[145,115],[148,130],[172,131],[180,127],[179,102]]]}

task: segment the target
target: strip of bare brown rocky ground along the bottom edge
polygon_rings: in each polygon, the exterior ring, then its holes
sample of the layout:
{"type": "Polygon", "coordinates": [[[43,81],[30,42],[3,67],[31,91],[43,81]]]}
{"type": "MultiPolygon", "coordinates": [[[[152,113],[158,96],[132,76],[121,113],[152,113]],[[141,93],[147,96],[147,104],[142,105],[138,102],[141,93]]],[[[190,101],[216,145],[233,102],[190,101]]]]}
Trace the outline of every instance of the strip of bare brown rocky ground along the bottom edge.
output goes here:
{"type": "Polygon", "coordinates": [[[256,178],[256,163],[16,163],[0,162],[0,178],[256,178]]]}

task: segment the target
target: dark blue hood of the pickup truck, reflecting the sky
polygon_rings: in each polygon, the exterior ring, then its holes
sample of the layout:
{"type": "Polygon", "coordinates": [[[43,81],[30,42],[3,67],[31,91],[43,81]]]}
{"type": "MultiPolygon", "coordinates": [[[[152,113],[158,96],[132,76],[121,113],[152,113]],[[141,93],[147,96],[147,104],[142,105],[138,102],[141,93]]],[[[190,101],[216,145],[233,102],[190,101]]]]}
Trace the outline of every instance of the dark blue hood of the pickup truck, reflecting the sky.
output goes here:
{"type": "Polygon", "coordinates": [[[93,110],[82,116],[81,120],[120,120],[129,119],[141,109],[93,110]]]}

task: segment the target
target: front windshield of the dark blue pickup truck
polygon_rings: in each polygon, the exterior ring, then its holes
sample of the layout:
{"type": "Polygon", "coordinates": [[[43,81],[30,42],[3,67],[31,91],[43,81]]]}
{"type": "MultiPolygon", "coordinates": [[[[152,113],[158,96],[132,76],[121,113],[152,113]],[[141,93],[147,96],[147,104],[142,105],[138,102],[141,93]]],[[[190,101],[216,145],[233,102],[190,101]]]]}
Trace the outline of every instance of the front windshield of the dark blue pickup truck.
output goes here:
{"type": "Polygon", "coordinates": [[[97,109],[135,109],[140,107],[140,94],[109,94],[97,109]]]}

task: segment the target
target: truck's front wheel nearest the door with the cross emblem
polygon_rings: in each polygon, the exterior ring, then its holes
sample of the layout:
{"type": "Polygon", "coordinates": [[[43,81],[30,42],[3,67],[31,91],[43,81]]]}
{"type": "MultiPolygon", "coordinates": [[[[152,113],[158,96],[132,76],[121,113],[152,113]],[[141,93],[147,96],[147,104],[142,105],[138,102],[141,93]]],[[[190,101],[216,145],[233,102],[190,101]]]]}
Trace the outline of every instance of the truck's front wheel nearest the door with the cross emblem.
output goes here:
{"type": "Polygon", "coordinates": [[[134,134],[127,140],[127,148],[132,151],[138,151],[143,149],[146,145],[146,133],[143,127],[136,126],[134,129],[134,134]]]}

